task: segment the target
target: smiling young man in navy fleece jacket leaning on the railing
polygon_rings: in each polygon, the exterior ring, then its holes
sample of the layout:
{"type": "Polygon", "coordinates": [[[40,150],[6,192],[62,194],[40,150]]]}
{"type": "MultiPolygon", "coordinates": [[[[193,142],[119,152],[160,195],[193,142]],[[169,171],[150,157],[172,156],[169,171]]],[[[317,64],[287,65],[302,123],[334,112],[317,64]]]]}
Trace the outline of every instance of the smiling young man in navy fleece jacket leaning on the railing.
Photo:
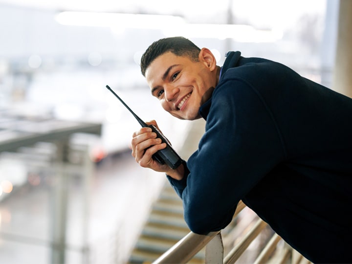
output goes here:
{"type": "Polygon", "coordinates": [[[238,51],[217,66],[181,37],[154,42],[141,71],[164,110],[206,120],[175,170],[152,158],[165,143],[151,129],[132,138],[140,166],[166,173],[193,232],[224,228],[242,199],[308,260],[352,263],[352,99],[238,51]]]}

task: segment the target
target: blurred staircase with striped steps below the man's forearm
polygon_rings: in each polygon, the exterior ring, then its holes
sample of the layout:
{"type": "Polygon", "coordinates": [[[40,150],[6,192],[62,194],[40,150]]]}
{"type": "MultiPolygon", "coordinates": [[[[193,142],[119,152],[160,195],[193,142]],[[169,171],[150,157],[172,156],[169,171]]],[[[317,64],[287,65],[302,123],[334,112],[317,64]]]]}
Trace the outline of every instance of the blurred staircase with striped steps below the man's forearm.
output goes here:
{"type": "MultiPolygon", "coordinates": [[[[166,182],[159,198],[153,204],[129,263],[152,263],[189,232],[183,219],[182,201],[169,182],[166,182]]],[[[189,263],[204,263],[204,252],[198,253],[189,263]]]]}

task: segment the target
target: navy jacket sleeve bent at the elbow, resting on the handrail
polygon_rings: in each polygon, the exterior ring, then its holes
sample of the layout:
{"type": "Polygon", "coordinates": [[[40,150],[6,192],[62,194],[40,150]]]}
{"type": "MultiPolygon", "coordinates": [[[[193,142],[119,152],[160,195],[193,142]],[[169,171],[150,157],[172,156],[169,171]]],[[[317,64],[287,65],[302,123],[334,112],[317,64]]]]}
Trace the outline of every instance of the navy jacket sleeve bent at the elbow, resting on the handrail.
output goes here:
{"type": "Polygon", "coordinates": [[[189,175],[169,179],[183,201],[189,228],[206,234],[232,220],[238,202],[285,157],[274,115],[243,80],[217,87],[189,175]]]}

